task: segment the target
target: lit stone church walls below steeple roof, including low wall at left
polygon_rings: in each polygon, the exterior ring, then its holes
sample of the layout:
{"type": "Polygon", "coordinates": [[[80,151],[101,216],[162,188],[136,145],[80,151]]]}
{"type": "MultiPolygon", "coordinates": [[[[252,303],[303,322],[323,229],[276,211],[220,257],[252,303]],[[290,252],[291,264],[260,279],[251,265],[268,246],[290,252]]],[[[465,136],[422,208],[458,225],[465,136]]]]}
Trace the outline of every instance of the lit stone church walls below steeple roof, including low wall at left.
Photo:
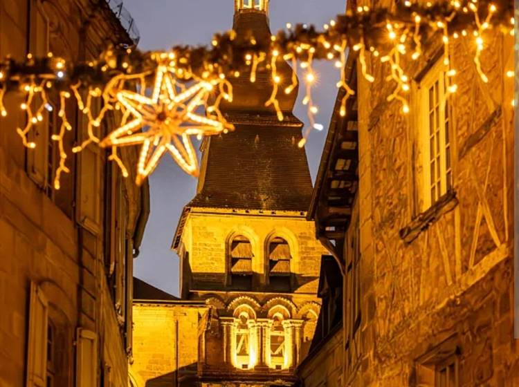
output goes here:
{"type": "MultiPolygon", "coordinates": [[[[190,209],[181,220],[183,299],[134,301],[136,386],[289,386],[320,312],[313,223],[289,211],[190,209]],[[263,212],[263,211],[262,211],[263,212]],[[230,282],[234,236],[251,241],[251,287],[230,282]],[[269,283],[268,242],[287,241],[289,288],[269,283]]],[[[271,278],[270,278],[271,279],[271,278]]],[[[155,298],[155,297],[152,297],[155,298]]]]}

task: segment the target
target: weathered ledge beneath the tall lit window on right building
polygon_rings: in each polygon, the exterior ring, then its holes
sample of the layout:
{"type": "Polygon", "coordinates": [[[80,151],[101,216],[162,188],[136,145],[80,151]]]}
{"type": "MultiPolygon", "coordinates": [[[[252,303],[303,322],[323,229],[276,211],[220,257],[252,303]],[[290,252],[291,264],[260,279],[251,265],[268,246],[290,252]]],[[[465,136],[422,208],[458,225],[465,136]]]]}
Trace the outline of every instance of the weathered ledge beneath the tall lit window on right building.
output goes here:
{"type": "Polygon", "coordinates": [[[441,216],[452,211],[457,204],[456,191],[448,191],[434,205],[418,214],[406,227],[401,228],[399,231],[400,238],[406,244],[411,243],[421,232],[428,229],[432,223],[435,223],[441,216]]]}

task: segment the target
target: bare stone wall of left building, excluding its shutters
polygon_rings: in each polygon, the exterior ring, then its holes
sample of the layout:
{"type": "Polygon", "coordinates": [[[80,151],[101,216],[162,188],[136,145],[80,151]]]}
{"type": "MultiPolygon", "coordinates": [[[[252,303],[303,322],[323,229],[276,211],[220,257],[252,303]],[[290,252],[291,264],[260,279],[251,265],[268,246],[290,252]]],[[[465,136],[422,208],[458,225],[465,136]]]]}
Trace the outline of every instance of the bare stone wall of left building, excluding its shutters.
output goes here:
{"type": "MultiPolygon", "coordinates": [[[[21,59],[26,55],[30,46],[28,6],[42,8],[49,21],[49,48],[67,59],[92,57],[104,44],[124,35],[116,30],[113,15],[99,5],[93,8],[93,1],[1,0],[0,57],[10,54],[21,59]],[[91,18],[84,23],[87,15],[91,18]]],[[[93,232],[84,227],[76,207],[80,202],[75,185],[82,171],[80,156],[70,153],[67,166],[72,172],[63,175],[62,189],[46,193],[30,177],[26,166],[31,151],[23,147],[16,131],[25,122],[18,107],[19,95],[8,93],[4,102],[9,114],[0,120],[0,386],[26,385],[31,283],[45,295],[48,315],[60,334],[55,385],[77,385],[76,330],[84,328],[95,333],[98,348],[91,359],[95,365],[91,379],[95,384],[103,378],[113,386],[126,386],[127,350],[131,349],[125,332],[127,315],[116,315],[104,266],[110,254],[104,250],[105,231],[110,227],[102,215],[105,170],[98,171],[100,185],[95,196],[101,215],[99,228],[93,232]]],[[[75,131],[69,133],[66,147],[77,140],[75,131]]],[[[136,153],[125,152],[123,157],[136,160],[136,153]]],[[[99,165],[104,165],[103,156],[100,158],[99,165]]],[[[131,239],[141,210],[140,189],[128,181],[125,191],[129,211],[123,237],[131,239]]],[[[127,243],[131,252],[131,240],[127,243]]],[[[131,265],[131,259],[125,265],[131,265]]]]}

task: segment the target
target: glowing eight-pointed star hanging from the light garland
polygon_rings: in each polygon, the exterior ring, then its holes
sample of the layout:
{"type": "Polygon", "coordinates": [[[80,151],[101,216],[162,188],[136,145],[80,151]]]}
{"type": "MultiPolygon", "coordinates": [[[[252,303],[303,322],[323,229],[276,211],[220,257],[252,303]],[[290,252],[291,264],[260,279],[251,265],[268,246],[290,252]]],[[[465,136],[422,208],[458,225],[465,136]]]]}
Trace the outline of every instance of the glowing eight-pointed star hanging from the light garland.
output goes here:
{"type": "Polygon", "coordinates": [[[190,136],[201,138],[233,129],[226,122],[196,112],[206,104],[213,83],[201,80],[188,88],[178,86],[174,68],[159,64],[151,97],[127,90],[117,92],[122,120],[118,129],[102,140],[101,146],[142,144],[137,164],[138,185],[154,171],[166,152],[186,173],[198,176],[197,154],[190,136]]]}

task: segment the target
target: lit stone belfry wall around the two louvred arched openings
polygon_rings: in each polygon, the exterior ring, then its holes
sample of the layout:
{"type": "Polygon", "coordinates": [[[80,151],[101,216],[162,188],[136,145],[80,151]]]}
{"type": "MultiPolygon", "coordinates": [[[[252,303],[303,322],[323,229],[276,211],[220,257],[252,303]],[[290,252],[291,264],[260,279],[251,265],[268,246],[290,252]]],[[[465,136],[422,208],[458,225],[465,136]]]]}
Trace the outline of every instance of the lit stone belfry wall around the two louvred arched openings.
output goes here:
{"type": "Polygon", "coordinates": [[[183,283],[191,281],[192,289],[199,289],[197,286],[204,283],[215,283],[216,287],[224,285],[228,243],[231,236],[243,235],[251,240],[253,247],[252,265],[256,275],[253,287],[255,291],[266,290],[266,243],[271,236],[280,236],[290,245],[295,293],[316,292],[320,256],[325,249],[315,238],[313,223],[293,213],[228,212],[198,212],[197,209],[190,212],[182,238],[184,250],[188,252],[188,262],[183,263],[183,283]]]}

